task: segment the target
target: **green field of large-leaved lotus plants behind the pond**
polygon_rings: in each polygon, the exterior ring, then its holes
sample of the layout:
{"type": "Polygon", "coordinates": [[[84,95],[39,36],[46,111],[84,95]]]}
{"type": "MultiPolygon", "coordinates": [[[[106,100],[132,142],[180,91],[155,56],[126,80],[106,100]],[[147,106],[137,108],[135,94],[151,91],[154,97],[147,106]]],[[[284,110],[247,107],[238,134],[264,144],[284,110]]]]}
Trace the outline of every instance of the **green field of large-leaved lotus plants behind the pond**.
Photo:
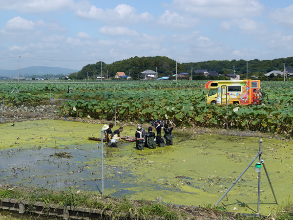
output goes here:
{"type": "MultiPolygon", "coordinates": [[[[182,126],[226,128],[226,106],[206,104],[205,83],[1,84],[0,97],[10,106],[39,105],[50,95],[72,99],[60,107],[59,112],[65,116],[113,120],[117,105],[120,121],[159,118],[182,121],[182,126]],[[71,94],[67,93],[68,86],[71,94]]],[[[262,105],[228,107],[228,127],[293,136],[293,82],[264,81],[261,87],[266,93],[262,105]]]]}

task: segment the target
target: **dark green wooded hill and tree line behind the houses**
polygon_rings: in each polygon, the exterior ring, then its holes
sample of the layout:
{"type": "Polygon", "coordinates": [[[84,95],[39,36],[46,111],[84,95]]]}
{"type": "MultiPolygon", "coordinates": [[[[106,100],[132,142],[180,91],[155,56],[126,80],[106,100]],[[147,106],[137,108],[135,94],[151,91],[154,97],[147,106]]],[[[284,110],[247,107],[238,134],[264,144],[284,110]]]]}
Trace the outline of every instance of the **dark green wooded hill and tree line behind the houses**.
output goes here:
{"type": "MultiPolygon", "coordinates": [[[[293,67],[293,57],[278,58],[273,60],[224,60],[224,61],[204,61],[204,62],[190,62],[177,63],[177,73],[187,72],[191,75],[191,69],[206,69],[208,71],[216,71],[219,74],[233,73],[233,66],[235,66],[235,73],[240,74],[240,77],[246,78],[246,70],[248,63],[249,76],[263,76],[263,74],[272,70],[284,69],[284,64],[287,68],[293,67]]],[[[126,60],[116,61],[112,64],[102,63],[102,75],[105,78],[113,78],[116,72],[124,72],[130,75],[133,79],[140,79],[140,73],[146,69],[158,72],[158,77],[169,76],[176,74],[176,61],[165,56],[155,57],[131,57],[126,60]]],[[[95,79],[96,76],[101,75],[101,61],[96,64],[88,64],[77,73],[71,73],[69,79],[95,79]]],[[[195,80],[202,77],[193,77],[195,80]]]]}

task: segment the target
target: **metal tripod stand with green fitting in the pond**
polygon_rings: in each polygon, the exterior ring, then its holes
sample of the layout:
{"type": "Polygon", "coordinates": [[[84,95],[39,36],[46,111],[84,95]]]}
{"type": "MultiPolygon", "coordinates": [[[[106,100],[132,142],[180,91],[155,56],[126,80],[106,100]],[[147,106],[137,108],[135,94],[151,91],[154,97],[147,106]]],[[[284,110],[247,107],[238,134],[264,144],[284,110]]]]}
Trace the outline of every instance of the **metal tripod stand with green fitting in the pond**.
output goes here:
{"type": "MultiPolygon", "coordinates": [[[[261,151],[261,144],[262,144],[262,139],[259,140],[259,152],[257,153],[257,155],[253,158],[253,160],[250,162],[250,164],[245,168],[245,170],[240,174],[240,176],[238,176],[235,181],[232,183],[232,185],[230,186],[230,188],[224,193],[224,195],[216,202],[215,206],[219,204],[219,202],[227,195],[227,193],[229,193],[230,189],[232,189],[232,187],[236,184],[236,182],[241,178],[241,176],[243,176],[243,174],[248,170],[248,168],[250,168],[251,164],[257,159],[257,157],[259,157],[259,163],[263,164],[264,166],[264,170],[266,172],[266,175],[267,175],[267,178],[268,178],[268,181],[269,181],[269,184],[271,186],[271,189],[272,189],[272,183],[271,183],[271,180],[269,178],[269,175],[268,175],[268,172],[267,172],[267,169],[266,169],[266,166],[265,166],[265,162],[264,160],[261,159],[261,154],[262,154],[262,151],[261,151]]],[[[260,168],[259,168],[260,169],[260,168]]],[[[259,214],[259,203],[260,203],[260,176],[261,176],[261,173],[260,173],[260,170],[259,170],[259,173],[258,173],[258,192],[257,192],[257,214],[259,214]]],[[[272,189],[272,194],[273,194],[273,197],[275,199],[275,202],[276,204],[278,204],[278,201],[277,201],[277,198],[276,198],[276,195],[272,189]]]]}

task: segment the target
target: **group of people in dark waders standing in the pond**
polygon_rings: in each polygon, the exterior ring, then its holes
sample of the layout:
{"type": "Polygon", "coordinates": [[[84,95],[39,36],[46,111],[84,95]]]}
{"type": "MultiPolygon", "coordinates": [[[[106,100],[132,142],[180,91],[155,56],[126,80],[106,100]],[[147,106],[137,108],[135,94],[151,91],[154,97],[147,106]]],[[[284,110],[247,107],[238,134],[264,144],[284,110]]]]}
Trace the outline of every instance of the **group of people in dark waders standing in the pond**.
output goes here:
{"type": "MultiPolygon", "coordinates": [[[[165,132],[164,138],[166,140],[166,144],[164,139],[162,138],[162,127],[161,121],[156,121],[154,127],[148,127],[147,132],[141,126],[137,126],[135,132],[135,141],[136,141],[136,149],[144,150],[144,148],[154,149],[158,145],[159,147],[165,147],[165,145],[173,145],[173,135],[172,131],[176,127],[173,121],[170,121],[172,127],[169,127],[168,124],[165,124],[163,121],[163,131],[165,132]],[[155,132],[157,132],[157,135],[155,132]]],[[[109,126],[104,125],[103,130],[105,131],[106,142],[108,143],[108,147],[117,147],[117,140],[123,142],[120,137],[120,132],[123,132],[123,127],[120,127],[118,130],[112,132],[114,124],[110,123],[109,126]]]]}

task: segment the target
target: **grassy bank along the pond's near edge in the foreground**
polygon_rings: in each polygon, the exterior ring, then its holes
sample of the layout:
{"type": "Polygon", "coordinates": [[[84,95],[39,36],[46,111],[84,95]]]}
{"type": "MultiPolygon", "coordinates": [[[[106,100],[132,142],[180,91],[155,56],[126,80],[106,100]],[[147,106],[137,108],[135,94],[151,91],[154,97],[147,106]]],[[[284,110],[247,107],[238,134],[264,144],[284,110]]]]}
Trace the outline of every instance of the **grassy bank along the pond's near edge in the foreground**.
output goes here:
{"type": "MultiPolygon", "coordinates": [[[[27,200],[30,204],[43,202],[46,205],[57,204],[63,206],[84,207],[90,209],[100,209],[105,211],[111,219],[148,219],[149,217],[160,217],[166,220],[191,220],[191,219],[257,219],[243,217],[237,213],[226,213],[224,210],[217,209],[211,205],[203,205],[192,208],[179,208],[173,205],[166,205],[161,202],[151,202],[144,200],[133,200],[126,198],[112,198],[101,196],[95,192],[81,192],[67,189],[66,191],[53,191],[43,188],[22,188],[9,185],[0,186],[0,198],[14,198],[27,200]]],[[[32,207],[31,207],[32,208],[32,207]]],[[[30,207],[28,208],[28,212],[30,207]]],[[[44,208],[46,212],[46,208],[44,208]]],[[[17,220],[18,218],[10,215],[0,214],[1,220],[17,220]]],[[[21,218],[29,220],[30,218],[21,218]]],[[[282,204],[275,213],[271,213],[267,218],[272,220],[293,219],[292,202],[282,204]]]]}

